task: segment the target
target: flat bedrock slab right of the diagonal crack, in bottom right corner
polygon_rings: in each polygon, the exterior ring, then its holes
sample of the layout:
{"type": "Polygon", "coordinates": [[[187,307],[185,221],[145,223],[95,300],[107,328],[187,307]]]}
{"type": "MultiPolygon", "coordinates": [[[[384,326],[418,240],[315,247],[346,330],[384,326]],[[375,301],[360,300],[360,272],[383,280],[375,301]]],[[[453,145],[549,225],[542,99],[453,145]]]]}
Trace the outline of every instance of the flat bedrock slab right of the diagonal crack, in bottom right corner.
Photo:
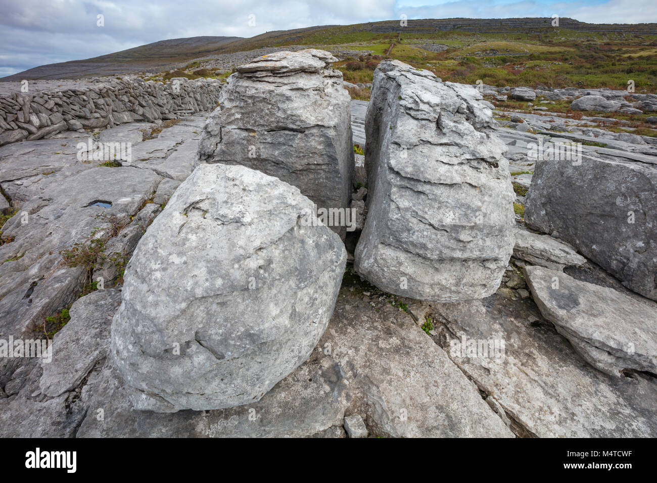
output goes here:
{"type": "MultiPolygon", "coordinates": [[[[560,274],[559,274],[560,275],[560,274]]],[[[618,378],[594,369],[529,300],[500,292],[455,304],[432,304],[434,338],[488,397],[519,436],[637,438],[657,434],[657,384],[645,375],[618,378]],[[504,357],[468,357],[461,342],[497,340],[504,357]],[[454,344],[452,344],[454,340],[454,344]],[[454,347],[454,351],[451,349],[454,347]]]]}

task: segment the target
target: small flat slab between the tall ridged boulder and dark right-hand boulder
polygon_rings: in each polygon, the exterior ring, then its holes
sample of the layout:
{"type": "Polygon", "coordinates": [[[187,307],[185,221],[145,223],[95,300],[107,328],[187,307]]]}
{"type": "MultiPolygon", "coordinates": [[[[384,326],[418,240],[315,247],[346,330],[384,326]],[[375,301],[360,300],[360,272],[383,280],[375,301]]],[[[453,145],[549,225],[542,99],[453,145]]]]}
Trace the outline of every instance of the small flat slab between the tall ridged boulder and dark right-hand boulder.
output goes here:
{"type": "Polygon", "coordinates": [[[514,233],[516,235],[516,244],[513,246],[515,258],[557,271],[563,271],[566,265],[586,263],[586,259],[572,247],[556,241],[550,235],[539,235],[520,228],[516,228],[514,233]]]}

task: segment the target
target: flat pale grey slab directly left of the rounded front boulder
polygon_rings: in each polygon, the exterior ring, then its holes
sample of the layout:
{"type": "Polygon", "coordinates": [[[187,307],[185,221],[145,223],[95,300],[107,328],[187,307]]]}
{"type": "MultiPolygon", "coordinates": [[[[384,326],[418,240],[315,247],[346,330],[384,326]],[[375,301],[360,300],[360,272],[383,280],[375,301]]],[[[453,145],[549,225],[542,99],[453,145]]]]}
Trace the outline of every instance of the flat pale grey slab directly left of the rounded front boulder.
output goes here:
{"type": "Polygon", "coordinates": [[[51,361],[41,362],[41,392],[57,397],[73,390],[93,366],[107,356],[112,317],[121,303],[121,291],[103,289],[76,300],[71,319],[55,334],[51,361]]]}

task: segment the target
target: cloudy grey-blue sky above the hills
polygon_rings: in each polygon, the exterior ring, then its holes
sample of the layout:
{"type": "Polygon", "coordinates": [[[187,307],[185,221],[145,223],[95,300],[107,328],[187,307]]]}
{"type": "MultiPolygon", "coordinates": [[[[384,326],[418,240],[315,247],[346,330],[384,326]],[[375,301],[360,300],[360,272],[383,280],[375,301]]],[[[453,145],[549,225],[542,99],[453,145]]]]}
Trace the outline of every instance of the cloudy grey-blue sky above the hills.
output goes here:
{"type": "MultiPolygon", "coordinates": [[[[0,0],[0,77],[163,39],[407,18],[657,22],[656,0],[0,0]],[[97,16],[104,26],[97,26],[97,16]],[[250,15],[255,26],[250,26],[250,15]],[[253,17],[251,17],[253,18],[253,17]]],[[[253,22],[251,22],[253,23],[253,22]]]]}

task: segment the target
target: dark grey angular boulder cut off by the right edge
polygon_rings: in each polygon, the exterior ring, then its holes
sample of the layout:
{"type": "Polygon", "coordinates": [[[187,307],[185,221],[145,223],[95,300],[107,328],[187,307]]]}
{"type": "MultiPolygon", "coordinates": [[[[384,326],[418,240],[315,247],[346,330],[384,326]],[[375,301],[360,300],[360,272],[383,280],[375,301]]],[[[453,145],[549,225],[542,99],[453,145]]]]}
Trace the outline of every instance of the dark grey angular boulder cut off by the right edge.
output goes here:
{"type": "MultiPolygon", "coordinates": [[[[646,156],[647,157],[647,156],[646,156]]],[[[657,300],[657,165],[582,156],[537,163],[525,221],[558,233],[625,287],[657,300]]]]}

